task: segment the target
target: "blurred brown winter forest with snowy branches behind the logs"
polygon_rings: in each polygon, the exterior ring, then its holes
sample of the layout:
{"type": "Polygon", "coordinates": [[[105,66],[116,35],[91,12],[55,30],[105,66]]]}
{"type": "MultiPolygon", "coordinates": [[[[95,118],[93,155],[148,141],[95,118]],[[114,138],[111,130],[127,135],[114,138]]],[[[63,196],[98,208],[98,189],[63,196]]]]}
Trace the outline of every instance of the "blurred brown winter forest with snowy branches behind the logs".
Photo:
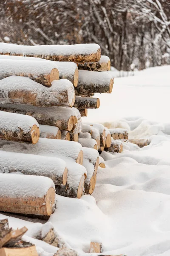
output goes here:
{"type": "Polygon", "coordinates": [[[170,64],[170,0],[1,0],[0,26],[1,42],[97,43],[118,70],[170,64]]]}

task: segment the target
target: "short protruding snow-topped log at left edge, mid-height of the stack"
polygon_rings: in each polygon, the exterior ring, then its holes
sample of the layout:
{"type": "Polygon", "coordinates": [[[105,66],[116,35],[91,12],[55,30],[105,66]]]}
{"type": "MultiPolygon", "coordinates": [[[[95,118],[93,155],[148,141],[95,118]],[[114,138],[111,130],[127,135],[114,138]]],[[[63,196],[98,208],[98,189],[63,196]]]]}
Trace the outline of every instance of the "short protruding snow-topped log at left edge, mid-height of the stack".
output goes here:
{"type": "Polygon", "coordinates": [[[0,111],[0,139],[36,144],[40,131],[34,117],[0,111]]]}

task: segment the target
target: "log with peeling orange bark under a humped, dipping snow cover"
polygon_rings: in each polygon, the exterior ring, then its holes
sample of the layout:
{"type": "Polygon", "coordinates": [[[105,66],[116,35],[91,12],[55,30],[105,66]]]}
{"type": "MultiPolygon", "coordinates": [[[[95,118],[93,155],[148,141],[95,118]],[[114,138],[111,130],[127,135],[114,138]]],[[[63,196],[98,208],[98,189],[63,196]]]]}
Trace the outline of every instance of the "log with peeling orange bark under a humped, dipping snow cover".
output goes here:
{"type": "Polygon", "coordinates": [[[70,81],[65,80],[66,83],[63,83],[62,80],[53,81],[53,85],[48,89],[28,77],[6,77],[0,80],[0,102],[3,104],[26,104],[37,107],[72,107],[75,100],[74,87],[70,81]],[[67,83],[70,83],[68,88],[67,83]],[[61,89],[62,85],[66,85],[66,87],[63,86],[61,89]]]}

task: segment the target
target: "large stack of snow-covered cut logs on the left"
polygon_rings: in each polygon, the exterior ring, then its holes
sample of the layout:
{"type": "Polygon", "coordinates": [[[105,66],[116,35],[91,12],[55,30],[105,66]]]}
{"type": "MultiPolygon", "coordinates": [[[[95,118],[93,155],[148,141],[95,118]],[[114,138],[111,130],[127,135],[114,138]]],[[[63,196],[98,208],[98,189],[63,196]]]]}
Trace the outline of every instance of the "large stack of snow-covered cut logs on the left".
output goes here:
{"type": "Polygon", "coordinates": [[[111,146],[111,134],[103,125],[82,124],[81,116],[87,116],[89,108],[99,108],[100,101],[93,97],[94,93],[111,93],[113,78],[102,72],[109,69],[110,60],[101,56],[98,44],[0,43],[2,182],[8,187],[12,178],[14,189],[20,180],[20,175],[14,173],[22,174],[22,178],[26,177],[23,183],[34,184],[36,180],[41,192],[42,178],[45,185],[52,182],[51,187],[45,187],[42,198],[36,192],[28,193],[28,198],[20,193],[19,201],[17,190],[16,195],[12,189],[7,195],[3,184],[1,211],[49,216],[54,210],[55,192],[73,198],[80,198],[83,192],[92,194],[98,151],[111,146]],[[50,209],[45,208],[48,198],[52,200],[50,209]],[[35,199],[44,207],[34,205],[35,199]]]}

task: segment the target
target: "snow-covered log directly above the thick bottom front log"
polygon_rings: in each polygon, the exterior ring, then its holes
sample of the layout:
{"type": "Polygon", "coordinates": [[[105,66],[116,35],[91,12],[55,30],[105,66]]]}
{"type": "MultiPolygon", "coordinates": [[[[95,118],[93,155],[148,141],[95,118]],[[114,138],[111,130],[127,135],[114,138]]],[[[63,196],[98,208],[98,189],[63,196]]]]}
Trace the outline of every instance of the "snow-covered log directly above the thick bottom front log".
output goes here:
{"type": "Polygon", "coordinates": [[[68,170],[65,161],[60,158],[0,151],[0,173],[15,172],[49,177],[55,185],[67,183],[68,170]]]}

